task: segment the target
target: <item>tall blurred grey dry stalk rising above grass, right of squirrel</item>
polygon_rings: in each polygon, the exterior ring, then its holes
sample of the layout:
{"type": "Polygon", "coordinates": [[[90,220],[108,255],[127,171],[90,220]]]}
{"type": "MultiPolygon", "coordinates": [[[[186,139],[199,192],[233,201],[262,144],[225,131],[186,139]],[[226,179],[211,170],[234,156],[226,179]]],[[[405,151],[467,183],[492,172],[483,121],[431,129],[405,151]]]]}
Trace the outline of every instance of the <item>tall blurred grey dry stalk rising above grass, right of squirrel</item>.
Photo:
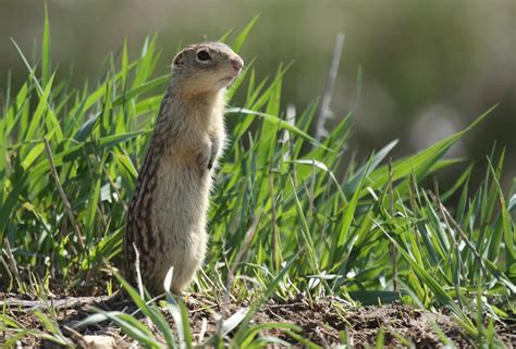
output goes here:
{"type": "Polygon", "coordinates": [[[330,75],[328,76],[324,95],[322,96],[321,111],[317,121],[316,140],[320,141],[327,135],[324,124],[331,116],[330,103],[335,86],[336,75],[339,73],[339,64],[341,62],[342,50],[344,49],[344,34],[339,33],[335,38],[335,48],[333,50],[333,58],[331,61],[330,75]]]}

